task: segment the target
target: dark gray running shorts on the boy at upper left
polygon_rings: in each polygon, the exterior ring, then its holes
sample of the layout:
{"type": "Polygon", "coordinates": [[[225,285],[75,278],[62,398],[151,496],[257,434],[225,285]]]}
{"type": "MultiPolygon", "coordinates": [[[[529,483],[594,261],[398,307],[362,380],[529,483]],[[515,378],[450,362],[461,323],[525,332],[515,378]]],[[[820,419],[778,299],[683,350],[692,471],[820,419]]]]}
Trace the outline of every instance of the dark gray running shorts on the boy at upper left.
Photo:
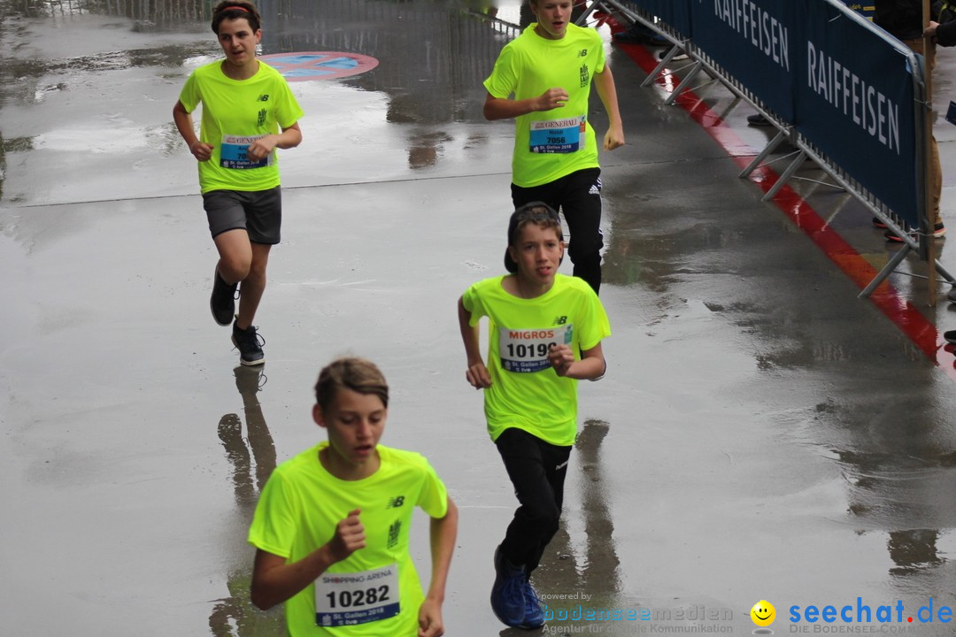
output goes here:
{"type": "Polygon", "coordinates": [[[244,229],[253,244],[278,244],[282,225],[282,191],[210,190],[203,195],[209,232],[215,239],[227,230],[244,229]]]}

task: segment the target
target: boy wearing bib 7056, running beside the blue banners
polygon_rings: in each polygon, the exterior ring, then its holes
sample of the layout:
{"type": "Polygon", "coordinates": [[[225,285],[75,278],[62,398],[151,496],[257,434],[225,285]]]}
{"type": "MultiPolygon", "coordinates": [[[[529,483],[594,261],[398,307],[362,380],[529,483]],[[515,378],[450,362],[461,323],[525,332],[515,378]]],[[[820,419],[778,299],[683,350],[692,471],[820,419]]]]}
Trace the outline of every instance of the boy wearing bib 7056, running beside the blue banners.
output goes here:
{"type": "Polygon", "coordinates": [[[515,208],[540,201],[561,210],[574,274],[597,292],[604,243],[588,99],[593,81],[609,120],[604,150],[622,146],[614,76],[597,32],[571,24],[572,0],[531,0],[531,9],[537,22],[505,46],[485,80],[485,117],[515,118],[511,201],[515,208]]]}

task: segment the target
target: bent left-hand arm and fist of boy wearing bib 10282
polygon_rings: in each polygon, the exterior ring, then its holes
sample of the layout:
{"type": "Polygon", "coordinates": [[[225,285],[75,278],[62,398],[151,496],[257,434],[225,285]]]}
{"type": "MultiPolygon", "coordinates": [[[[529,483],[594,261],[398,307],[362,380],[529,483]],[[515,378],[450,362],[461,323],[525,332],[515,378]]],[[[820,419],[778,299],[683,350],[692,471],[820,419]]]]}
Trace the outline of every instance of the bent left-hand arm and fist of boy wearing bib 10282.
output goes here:
{"type": "Polygon", "coordinates": [[[298,562],[264,551],[255,552],[252,565],[252,604],[262,610],[282,604],[300,590],[315,582],[329,566],[341,562],[359,548],[365,547],[365,527],[359,521],[359,509],[349,512],[336,525],[336,534],[298,562]]]}

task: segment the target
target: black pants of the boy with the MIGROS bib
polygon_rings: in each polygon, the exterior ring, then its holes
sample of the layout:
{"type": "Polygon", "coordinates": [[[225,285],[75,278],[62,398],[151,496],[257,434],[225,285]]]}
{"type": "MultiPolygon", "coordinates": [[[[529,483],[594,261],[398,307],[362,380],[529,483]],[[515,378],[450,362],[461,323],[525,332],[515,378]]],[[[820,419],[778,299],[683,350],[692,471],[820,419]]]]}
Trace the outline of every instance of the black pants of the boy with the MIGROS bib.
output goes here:
{"type": "Polygon", "coordinates": [[[514,428],[506,429],[495,444],[521,503],[501,542],[501,553],[531,573],[557,532],[571,447],[558,447],[514,428]]]}

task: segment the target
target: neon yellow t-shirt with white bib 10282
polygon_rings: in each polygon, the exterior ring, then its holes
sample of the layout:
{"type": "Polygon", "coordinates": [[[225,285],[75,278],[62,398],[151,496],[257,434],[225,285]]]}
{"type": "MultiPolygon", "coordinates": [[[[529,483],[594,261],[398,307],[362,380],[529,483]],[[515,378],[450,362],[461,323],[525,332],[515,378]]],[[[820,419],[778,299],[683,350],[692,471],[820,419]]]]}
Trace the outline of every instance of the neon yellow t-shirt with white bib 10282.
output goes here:
{"type": "Polygon", "coordinates": [[[283,462],[266,483],[249,531],[250,544],[297,562],[332,539],[349,511],[361,509],[365,548],[333,564],[286,604],[293,637],[413,637],[422,584],[408,553],[412,510],[444,518],[445,484],[413,452],[379,445],[379,470],[341,480],[318,459],[322,442],[283,462]]]}

